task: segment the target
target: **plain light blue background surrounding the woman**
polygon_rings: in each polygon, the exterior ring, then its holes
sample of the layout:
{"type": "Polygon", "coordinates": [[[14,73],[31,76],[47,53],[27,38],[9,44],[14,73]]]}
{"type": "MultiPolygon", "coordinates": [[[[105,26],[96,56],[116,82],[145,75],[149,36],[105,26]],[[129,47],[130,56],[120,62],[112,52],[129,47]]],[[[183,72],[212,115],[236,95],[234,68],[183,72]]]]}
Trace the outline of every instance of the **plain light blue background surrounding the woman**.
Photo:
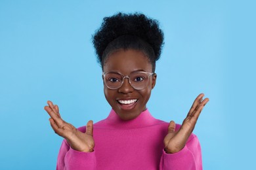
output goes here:
{"type": "Polygon", "coordinates": [[[181,124],[194,98],[210,98],[194,133],[204,169],[255,168],[253,1],[0,1],[0,169],[55,169],[62,138],[43,110],[84,126],[110,111],[91,35],[104,16],[143,12],[165,46],[148,103],[181,124]]]}

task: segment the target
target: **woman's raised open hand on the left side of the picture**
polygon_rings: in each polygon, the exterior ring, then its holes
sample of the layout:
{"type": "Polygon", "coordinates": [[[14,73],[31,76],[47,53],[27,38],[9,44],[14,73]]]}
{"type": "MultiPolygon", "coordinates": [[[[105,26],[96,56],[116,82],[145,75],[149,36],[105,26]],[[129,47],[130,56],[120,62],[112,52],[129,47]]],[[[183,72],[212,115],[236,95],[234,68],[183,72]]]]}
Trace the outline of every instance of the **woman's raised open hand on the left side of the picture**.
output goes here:
{"type": "Polygon", "coordinates": [[[62,120],[57,105],[53,105],[51,101],[47,101],[47,104],[48,106],[45,106],[45,110],[51,116],[49,120],[54,132],[64,137],[74,150],[93,152],[93,148],[95,147],[95,141],[93,139],[93,121],[90,120],[87,123],[86,132],[82,133],[72,124],[68,124],[62,120]]]}

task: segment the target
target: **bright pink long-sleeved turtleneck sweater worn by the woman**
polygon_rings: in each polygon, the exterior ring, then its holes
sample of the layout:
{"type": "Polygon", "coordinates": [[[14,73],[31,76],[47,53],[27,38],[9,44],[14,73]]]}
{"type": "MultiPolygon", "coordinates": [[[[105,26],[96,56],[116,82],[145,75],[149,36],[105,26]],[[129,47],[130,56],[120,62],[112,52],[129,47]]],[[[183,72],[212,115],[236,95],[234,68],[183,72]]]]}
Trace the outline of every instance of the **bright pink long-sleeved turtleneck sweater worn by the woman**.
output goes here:
{"type": "MultiPolygon", "coordinates": [[[[121,120],[111,110],[108,118],[93,126],[95,150],[79,152],[64,140],[57,169],[202,169],[200,143],[194,134],[180,152],[165,153],[163,139],[168,125],[152,117],[148,110],[129,121],[121,120]]],[[[85,126],[79,130],[85,132],[85,126]]]]}

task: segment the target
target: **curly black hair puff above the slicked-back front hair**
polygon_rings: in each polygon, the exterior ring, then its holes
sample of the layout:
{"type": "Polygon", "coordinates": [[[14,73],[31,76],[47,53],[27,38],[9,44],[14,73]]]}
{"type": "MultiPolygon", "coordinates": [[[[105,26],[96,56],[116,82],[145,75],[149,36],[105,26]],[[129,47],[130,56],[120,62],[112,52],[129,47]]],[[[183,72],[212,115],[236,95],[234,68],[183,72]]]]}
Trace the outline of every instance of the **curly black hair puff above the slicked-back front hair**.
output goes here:
{"type": "Polygon", "coordinates": [[[102,54],[110,42],[121,35],[135,35],[152,46],[155,61],[160,58],[163,46],[163,32],[158,21],[146,17],[144,14],[117,13],[114,16],[105,17],[101,27],[93,35],[98,61],[102,62],[102,54]]]}

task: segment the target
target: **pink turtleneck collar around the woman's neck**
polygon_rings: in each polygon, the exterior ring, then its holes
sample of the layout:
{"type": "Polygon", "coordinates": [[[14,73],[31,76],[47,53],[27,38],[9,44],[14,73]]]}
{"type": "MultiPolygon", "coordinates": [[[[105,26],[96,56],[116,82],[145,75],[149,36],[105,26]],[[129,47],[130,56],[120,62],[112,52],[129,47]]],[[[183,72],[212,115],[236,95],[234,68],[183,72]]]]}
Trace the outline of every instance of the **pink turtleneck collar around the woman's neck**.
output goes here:
{"type": "Polygon", "coordinates": [[[116,112],[112,109],[110,114],[106,118],[108,125],[112,127],[125,128],[125,129],[135,129],[140,127],[151,126],[156,124],[158,120],[156,120],[148,111],[148,109],[144,110],[140,113],[137,118],[132,120],[121,120],[116,112]]]}

